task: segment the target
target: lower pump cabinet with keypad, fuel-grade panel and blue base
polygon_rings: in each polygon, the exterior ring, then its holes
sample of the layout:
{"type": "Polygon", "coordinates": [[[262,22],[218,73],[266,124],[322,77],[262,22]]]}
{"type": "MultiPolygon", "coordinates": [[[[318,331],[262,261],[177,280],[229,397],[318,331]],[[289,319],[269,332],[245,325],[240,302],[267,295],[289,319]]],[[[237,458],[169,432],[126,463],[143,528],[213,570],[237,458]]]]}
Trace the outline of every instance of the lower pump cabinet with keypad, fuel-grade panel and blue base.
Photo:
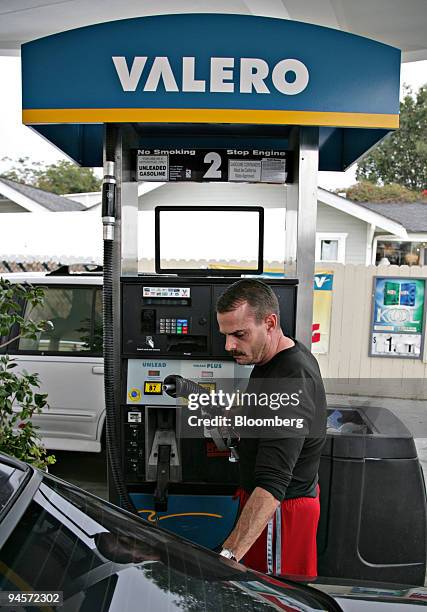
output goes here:
{"type": "MultiPolygon", "coordinates": [[[[248,377],[226,354],[215,302],[236,278],[142,276],[121,280],[125,483],[138,513],[215,548],[237,514],[238,464],[232,436],[182,437],[176,395],[248,377]],[[198,384],[177,392],[177,379],[198,384]],[[199,385],[202,385],[200,387],[199,385]]],[[[297,282],[269,280],[284,330],[295,333],[297,282]]]]}

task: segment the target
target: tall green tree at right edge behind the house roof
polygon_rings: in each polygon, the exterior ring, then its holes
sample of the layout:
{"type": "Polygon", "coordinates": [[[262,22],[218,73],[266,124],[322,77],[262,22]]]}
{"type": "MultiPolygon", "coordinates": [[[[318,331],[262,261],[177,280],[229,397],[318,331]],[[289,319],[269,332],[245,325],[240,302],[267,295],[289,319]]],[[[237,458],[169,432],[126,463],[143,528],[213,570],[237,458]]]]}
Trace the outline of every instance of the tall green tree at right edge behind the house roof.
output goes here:
{"type": "Polygon", "coordinates": [[[356,177],[427,189],[427,85],[416,94],[407,91],[400,104],[400,128],[362,159],[356,177]]]}

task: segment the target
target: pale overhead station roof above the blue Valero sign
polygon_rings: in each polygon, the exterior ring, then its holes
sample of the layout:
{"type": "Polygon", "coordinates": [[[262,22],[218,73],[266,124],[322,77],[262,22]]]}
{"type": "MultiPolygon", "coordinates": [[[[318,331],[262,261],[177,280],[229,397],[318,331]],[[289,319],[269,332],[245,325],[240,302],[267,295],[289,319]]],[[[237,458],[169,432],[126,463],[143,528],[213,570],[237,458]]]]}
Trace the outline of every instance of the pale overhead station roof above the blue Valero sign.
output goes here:
{"type": "Polygon", "coordinates": [[[195,10],[326,26],[397,47],[404,62],[427,60],[425,0],[3,0],[0,55],[16,55],[25,42],[72,28],[195,10]]]}

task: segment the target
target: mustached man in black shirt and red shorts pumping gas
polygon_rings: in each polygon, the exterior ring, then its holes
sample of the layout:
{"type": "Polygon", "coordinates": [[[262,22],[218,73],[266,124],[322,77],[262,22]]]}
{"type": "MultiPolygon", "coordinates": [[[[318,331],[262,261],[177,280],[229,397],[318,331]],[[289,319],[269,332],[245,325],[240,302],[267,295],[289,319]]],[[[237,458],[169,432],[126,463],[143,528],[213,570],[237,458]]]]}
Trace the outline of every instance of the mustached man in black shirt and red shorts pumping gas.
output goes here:
{"type": "MultiPolygon", "coordinates": [[[[327,415],[319,366],[304,345],[283,334],[277,297],[262,281],[237,281],[220,296],[216,311],[226,350],[238,364],[254,365],[248,390],[298,388],[298,413],[306,421],[299,435],[264,428],[258,437],[241,436],[240,516],[221,555],[263,572],[313,579],[327,415]]],[[[293,416],[292,408],[288,414],[293,416]]]]}

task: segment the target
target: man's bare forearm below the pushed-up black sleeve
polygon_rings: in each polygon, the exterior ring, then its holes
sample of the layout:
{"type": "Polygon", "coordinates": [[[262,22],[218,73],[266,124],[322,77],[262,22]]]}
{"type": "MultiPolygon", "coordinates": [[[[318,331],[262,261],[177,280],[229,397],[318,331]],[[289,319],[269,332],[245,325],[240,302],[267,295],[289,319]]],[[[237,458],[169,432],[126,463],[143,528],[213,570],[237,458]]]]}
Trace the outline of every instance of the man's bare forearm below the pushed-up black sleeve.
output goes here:
{"type": "Polygon", "coordinates": [[[256,487],[246,502],[236,527],[223,544],[237,561],[248,552],[273,516],[280,502],[268,491],[256,487]]]}

